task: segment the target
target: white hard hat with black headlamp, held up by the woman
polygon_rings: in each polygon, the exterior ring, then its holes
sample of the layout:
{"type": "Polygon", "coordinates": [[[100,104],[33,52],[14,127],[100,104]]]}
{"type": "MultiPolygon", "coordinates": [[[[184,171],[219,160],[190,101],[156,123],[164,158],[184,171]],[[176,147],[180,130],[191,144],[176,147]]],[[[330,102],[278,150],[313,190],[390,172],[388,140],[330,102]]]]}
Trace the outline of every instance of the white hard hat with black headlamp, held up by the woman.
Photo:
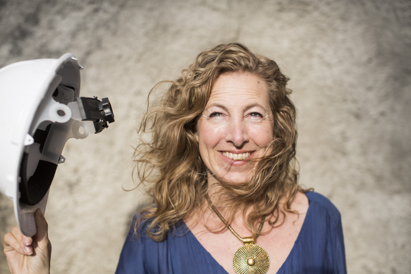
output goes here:
{"type": "Polygon", "coordinates": [[[0,192],[26,236],[37,232],[34,212],[46,209],[66,141],[114,122],[107,98],[80,97],[80,69],[71,53],[0,69],[0,192]]]}

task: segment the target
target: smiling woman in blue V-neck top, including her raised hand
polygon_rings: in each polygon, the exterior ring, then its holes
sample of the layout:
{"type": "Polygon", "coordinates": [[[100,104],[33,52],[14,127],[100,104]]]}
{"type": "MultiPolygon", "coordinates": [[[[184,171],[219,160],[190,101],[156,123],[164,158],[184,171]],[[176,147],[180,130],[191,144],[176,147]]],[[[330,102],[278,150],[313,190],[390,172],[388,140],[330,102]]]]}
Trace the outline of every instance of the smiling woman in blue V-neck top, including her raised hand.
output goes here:
{"type": "MultiPolygon", "coordinates": [[[[297,184],[287,81],[274,61],[232,43],[169,82],[141,124],[152,139],[136,149],[154,205],[135,217],[116,273],[346,272],[338,210],[297,184]]],[[[36,222],[46,227],[41,212],[36,222]]],[[[31,241],[18,229],[5,236],[11,268],[31,241]]],[[[48,243],[40,228],[42,270],[48,243]]]]}

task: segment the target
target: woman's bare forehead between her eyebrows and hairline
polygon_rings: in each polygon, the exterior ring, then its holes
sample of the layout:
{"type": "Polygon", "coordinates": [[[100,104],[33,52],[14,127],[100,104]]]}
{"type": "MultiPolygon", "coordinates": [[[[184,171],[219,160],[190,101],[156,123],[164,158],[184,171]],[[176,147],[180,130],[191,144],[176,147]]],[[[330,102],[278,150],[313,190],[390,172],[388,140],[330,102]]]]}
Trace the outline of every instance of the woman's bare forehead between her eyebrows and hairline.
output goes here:
{"type": "Polygon", "coordinates": [[[268,106],[268,89],[264,80],[248,72],[234,72],[220,75],[211,89],[208,104],[214,101],[231,103],[258,101],[268,106]]]}

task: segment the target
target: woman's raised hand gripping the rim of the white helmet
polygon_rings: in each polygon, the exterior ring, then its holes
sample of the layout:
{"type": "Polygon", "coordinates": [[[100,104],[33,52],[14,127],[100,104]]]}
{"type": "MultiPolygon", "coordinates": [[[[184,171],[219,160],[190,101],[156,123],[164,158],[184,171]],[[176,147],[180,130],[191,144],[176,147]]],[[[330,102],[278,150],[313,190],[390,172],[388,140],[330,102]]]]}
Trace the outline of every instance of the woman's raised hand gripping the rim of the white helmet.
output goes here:
{"type": "Polygon", "coordinates": [[[18,226],[4,236],[4,253],[11,274],[50,273],[51,243],[47,221],[39,208],[34,213],[37,234],[26,237],[18,226]]]}

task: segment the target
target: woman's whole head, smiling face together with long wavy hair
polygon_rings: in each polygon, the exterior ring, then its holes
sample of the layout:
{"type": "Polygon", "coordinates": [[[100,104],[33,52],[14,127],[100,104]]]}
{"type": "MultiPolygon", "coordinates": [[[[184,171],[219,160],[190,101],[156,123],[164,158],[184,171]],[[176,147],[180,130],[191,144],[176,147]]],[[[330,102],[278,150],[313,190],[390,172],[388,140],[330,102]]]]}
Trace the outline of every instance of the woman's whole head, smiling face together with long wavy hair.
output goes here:
{"type": "Polygon", "coordinates": [[[261,217],[281,210],[280,197],[292,211],[294,195],[303,190],[294,168],[295,108],[287,81],[274,61],[232,43],[201,52],[181,78],[165,82],[171,87],[141,124],[152,139],[135,153],[141,183],[152,186],[155,206],[140,220],[151,220],[147,233],[154,240],[213,195],[211,181],[228,194],[212,200],[229,200],[229,222],[234,211],[255,209],[245,220],[253,234],[261,217]],[[229,161],[230,153],[237,160],[229,161]],[[250,153],[247,165],[239,153],[250,153]]]}

